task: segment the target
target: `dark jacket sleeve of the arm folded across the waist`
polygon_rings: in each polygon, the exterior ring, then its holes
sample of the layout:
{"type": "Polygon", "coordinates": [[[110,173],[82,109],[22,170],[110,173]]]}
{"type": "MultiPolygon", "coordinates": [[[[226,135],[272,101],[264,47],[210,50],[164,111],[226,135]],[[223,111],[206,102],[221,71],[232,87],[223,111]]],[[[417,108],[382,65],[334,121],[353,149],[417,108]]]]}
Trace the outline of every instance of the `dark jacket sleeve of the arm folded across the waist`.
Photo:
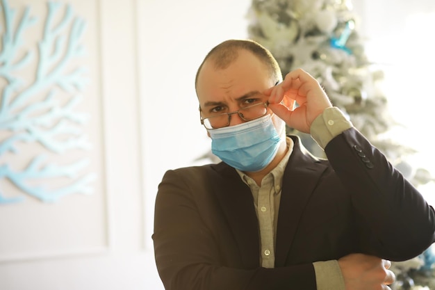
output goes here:
{"type": "Polygon", "coordinates": [[[166,172],[156,197],[152,238],[166,290],[316,289],[313,264],[243,269],[222,261],[183,172],[166,172]]]}

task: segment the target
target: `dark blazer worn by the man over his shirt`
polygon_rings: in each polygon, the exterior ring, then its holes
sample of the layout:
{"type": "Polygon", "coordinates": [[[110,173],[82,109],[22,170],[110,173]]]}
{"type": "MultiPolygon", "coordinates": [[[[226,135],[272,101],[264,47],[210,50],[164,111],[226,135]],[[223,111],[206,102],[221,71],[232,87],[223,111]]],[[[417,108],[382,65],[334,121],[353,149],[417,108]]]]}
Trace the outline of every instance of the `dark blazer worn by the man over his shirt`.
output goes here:
{"type": "Polygon", "coordinates": [[[236,170],[166,172],[153,234],[165,289],[316,289],[313,261],[352,252],[406,260],[435,241],[434,209],[359,131],[331,140],[328,161],[291,138],[273,269],[260,266],[254,200],[236,170]]]}

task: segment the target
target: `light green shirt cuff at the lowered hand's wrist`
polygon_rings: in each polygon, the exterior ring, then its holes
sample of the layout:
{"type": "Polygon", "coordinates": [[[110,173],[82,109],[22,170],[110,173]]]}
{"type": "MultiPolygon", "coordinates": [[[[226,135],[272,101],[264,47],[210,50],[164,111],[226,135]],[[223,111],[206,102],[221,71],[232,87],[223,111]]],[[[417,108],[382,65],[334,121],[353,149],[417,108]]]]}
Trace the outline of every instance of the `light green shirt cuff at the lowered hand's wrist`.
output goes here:
{"type": "Polygon", "coordinates": [[[313,263],[317,290],[345,290],[345,280],[337,260],[313,263]]]}

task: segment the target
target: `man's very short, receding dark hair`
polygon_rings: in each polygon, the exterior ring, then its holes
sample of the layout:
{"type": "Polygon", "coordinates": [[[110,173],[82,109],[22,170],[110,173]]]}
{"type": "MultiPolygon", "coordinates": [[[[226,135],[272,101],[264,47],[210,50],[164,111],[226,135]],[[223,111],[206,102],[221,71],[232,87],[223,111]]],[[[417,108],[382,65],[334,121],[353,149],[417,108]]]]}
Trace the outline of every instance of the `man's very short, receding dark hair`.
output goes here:
{"type": "Polygon", "coordinates": [[[199,65],[197,75],[195,76],[195,89],[197,88],[199,72],[201,72],[202,66],[209,58],[213,61],[216,69],[224,70],[229,67],[231,63],[236,61],[238,58],[238,51],[241,49],[251,51],[254,56],[264,63],[266,67],[268,67],[270,77],[274,81],[282,81],[282,72],[277,60],[272,56],[272,53],[270,53],[268,49],[263,47],[263,45],[260,45],[254,40],[226,40],[213,47],[213,49],[208,52],[201,65],[199,65]]]}

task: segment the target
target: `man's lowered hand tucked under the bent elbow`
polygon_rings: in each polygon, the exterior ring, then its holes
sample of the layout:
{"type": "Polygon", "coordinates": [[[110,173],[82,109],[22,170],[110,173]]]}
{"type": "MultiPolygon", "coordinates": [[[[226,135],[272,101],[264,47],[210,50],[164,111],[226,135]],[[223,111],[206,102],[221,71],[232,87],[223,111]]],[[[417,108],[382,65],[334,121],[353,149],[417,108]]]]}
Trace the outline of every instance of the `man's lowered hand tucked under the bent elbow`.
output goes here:
{"type": "Polygon", "coordinates": [[[395,281],[394,273],[388,270],[391,261],[378,257],[350,254],[338,259],[338,265],[346,290],[385,290],[395,281]]]}

